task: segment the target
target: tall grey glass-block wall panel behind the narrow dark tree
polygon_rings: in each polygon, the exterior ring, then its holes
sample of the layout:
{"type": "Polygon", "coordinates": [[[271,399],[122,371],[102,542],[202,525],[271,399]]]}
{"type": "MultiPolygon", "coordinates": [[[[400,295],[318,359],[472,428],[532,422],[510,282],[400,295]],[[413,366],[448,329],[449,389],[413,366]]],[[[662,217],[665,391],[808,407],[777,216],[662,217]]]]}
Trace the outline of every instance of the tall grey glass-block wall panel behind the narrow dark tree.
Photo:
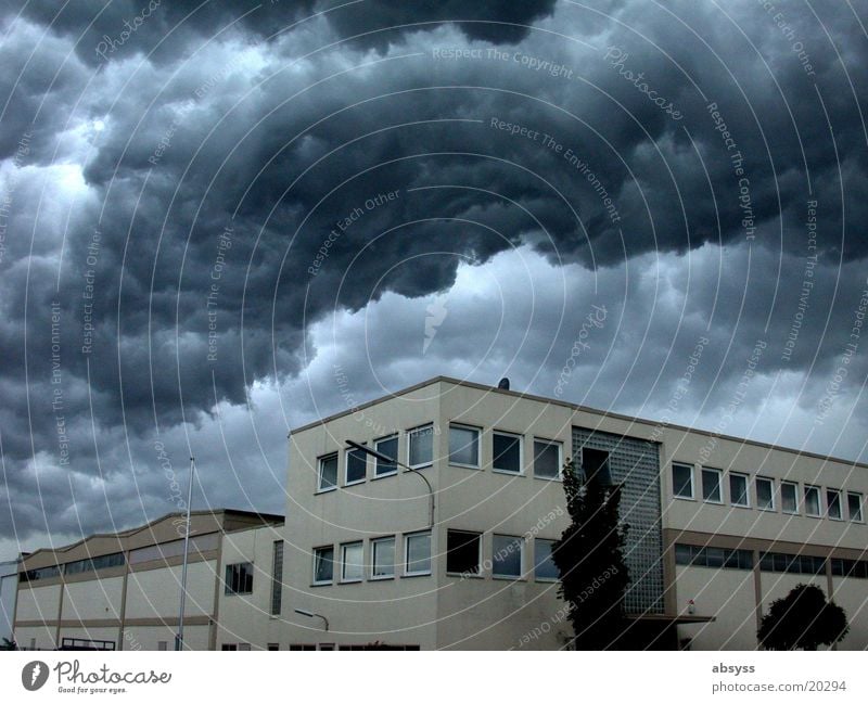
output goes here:
{"type": "Polygon", "coordinates": [[[625,562],[630,575],[628,613],[662,614],[663,533],[660,510],[660,447],[656,443],[573,426],[573,458],[582,448],[609,452],[612,481],[623,483],[621,520],[629,524],[625,562]]]}

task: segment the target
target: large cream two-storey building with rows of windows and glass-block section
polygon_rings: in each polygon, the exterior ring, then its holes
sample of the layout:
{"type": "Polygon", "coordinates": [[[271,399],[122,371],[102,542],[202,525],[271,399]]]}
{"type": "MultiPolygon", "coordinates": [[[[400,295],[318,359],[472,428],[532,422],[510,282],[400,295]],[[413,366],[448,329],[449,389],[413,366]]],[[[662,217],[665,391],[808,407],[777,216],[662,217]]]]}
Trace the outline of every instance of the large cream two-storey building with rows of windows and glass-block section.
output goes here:
{"type": "Polygon", "coordinates": [[[649,648],[754,649],[800,583],[868,648],[868,466],[447,377],[292,431],[284,601],[320,618],[286,612],[291,645],[563,648],[567,458],[623,485],[649,648]]]}

